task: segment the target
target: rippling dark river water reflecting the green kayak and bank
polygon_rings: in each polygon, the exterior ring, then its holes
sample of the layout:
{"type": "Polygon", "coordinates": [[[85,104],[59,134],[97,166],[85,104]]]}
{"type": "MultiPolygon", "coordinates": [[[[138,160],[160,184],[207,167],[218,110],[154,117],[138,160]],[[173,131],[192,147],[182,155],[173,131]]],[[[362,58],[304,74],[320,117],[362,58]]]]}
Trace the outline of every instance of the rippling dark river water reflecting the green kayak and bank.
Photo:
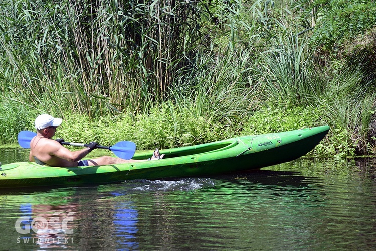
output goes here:
{"type": "MultiPolygon", "coordinates": [[[[0,149],[3,164],[27,156],[0,149]]],[[[215,177],[3,189],[0,250],[374,250],[375,177],[374,159],[300,158],[215,177]]]]}

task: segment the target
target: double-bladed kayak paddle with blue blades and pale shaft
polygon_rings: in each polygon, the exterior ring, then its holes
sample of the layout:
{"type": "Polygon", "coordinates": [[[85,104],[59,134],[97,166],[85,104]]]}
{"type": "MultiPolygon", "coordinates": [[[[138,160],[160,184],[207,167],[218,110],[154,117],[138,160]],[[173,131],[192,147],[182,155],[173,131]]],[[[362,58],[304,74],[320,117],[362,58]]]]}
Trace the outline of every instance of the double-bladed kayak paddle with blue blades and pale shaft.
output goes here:
{"type": "MultiPolygon", "coordinates": [[[[23,148],[30,148],[30,142],[36,135],[37,135],[36,133],[31,132],[31,131],[21,131],[18,134],[18,143],[23,148]]],[[[89,146],[89,144],[65,142],[65,141],[63,141],[62,144],[78,146],[78,147],[89,146]]],[[[117,157],[124,159],[124,160],[129,160],[129,159],[132,159],[136,151],[136,144],[134,144],[134,142],[131,142],[131,141],[120,141],[113,146],[106,147],[106,146],[97,145],[95,148],[111,150],[117,157]]]]}

